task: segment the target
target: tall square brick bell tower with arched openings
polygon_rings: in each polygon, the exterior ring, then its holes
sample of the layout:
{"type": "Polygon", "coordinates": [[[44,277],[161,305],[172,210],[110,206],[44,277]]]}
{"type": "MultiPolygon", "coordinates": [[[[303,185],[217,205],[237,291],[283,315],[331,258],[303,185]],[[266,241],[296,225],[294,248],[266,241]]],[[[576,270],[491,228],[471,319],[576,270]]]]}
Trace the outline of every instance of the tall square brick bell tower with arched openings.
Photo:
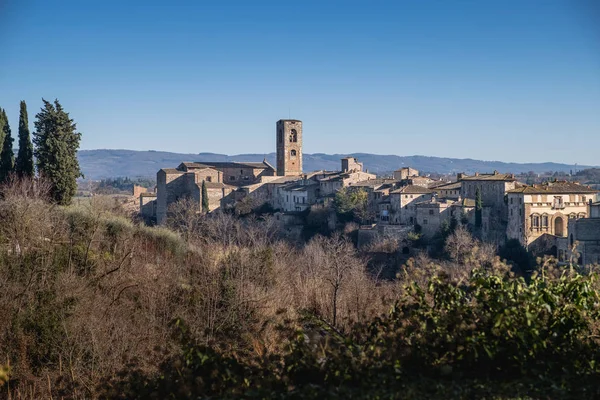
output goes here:
{"type": "Polygon", "coordinates": [[[302,174],[302,121],[277,121],[277,175],[302,174]]]}

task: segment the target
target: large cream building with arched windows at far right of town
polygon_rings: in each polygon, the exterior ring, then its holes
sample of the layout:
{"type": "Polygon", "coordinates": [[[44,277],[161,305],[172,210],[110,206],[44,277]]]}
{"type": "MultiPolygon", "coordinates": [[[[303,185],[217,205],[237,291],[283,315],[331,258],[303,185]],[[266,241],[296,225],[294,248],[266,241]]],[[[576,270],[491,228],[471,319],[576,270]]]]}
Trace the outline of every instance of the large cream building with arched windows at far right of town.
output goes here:
{"type": "MultiPolygon", "coordinates": [[[[566,237],[571,219],[588,216],[598,191],[574,182],[547,182],[508,192],[507,237],[529,246],[544,236],[566,237]]],[[[548,242],[551,243],[551,242],[548,242]]]]}

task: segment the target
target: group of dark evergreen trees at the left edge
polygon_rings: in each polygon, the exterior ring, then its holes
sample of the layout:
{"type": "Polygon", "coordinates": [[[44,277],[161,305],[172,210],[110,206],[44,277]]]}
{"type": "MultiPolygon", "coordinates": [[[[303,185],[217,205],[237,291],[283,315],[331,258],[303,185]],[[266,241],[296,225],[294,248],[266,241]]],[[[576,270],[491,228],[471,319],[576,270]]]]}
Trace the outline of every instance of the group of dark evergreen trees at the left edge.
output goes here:
{"type": "Polygon", "coordinates": [[[33,134],[29,130],[27,104],[21,101],[16,157],[8,116],[0,108],[0,184],[13,177],[43,178],[50,184],[51,199],[66,205],[76,193],[77,178],[83,176],[77,160],[81,132],[58,100],[42,101],[33,134]]]}

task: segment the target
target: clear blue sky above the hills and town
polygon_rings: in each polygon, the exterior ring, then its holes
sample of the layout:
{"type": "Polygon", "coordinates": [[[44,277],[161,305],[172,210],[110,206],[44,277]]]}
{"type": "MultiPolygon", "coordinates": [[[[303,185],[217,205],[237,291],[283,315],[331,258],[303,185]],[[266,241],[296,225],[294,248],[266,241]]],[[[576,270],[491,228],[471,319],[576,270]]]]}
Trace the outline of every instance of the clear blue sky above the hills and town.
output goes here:
{"type": "Polygon", "coordinates": [[[600,165],[600,1],[0,0],[0,107],[82,149],[600,165]]]}

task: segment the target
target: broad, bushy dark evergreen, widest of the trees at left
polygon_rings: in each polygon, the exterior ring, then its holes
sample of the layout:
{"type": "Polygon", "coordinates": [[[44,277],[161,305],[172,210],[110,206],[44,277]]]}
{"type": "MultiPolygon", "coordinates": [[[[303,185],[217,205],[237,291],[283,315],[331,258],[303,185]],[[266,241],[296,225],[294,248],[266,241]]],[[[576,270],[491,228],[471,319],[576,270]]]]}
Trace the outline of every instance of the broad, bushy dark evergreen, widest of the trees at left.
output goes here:
{"type": "Polygon", "coordinates": [[[42,99],[44,107],[35,116],[33,143],[38,173],[51,183],[51,195],[58,204],[69,204],[83,176],[77,160],[81,133],[58,100],[42,99]]]}

